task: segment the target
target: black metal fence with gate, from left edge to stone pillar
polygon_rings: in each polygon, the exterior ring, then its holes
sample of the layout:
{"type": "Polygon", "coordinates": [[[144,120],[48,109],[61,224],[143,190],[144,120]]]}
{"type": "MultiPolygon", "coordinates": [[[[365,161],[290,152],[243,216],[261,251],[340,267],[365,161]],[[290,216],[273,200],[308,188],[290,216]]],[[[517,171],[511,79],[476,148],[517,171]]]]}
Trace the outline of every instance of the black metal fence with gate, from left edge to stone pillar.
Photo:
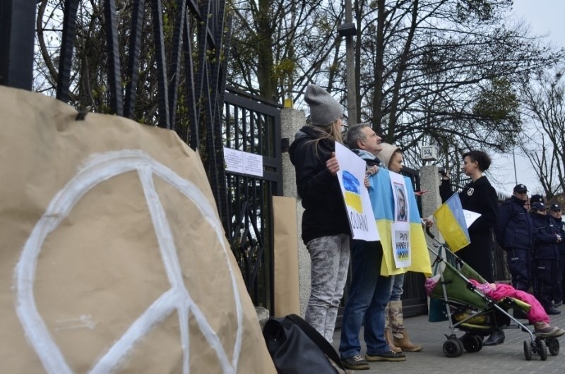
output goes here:
{"type": "Polygon", "coordinates": [[[44,91],[77,119],[97,111],[177,132],[203,159],[251,298],[270,308],[280,108],[226,91],[230,30],[225,0],[0,0],[0,85],[32,90],[42,53],[44,91]],[[261,155],[263,176],[226,173],[223,147],[261,155]]]}

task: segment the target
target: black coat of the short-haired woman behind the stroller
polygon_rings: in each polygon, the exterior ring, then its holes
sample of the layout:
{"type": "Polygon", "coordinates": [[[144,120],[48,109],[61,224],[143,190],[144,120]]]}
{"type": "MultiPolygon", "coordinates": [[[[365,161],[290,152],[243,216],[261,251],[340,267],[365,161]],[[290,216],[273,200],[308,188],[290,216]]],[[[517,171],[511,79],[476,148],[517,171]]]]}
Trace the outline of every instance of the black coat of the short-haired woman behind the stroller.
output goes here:
{"type": "MultiPolygon", "coordinates": [[[[449,181],[441,182],[439,194],[443,201],[453,195],[449,181]]],[[[457,255],[487,282],[493,282],[492,229],[496,226],[499,216],[496,191],[487,177],[482,176],[465,186],[459,193],[459,199],[463,209],[480,213],[481,216],[469,227],[471,243],[461,248],[457,255]]]]}

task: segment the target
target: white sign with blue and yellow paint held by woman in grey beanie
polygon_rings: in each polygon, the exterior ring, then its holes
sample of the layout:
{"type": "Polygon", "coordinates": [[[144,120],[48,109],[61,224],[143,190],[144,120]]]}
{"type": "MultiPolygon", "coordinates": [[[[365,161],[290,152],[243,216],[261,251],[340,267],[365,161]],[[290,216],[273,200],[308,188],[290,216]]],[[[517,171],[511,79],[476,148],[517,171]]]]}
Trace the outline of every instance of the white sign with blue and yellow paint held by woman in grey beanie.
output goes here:
{"type": "Polygon", "coordinates": [[[364,185],[366,163],[340,143],[335,143],[335,157],[340,164],[338,179],[353,239],[378,241],[379,231],[364,185]]]}

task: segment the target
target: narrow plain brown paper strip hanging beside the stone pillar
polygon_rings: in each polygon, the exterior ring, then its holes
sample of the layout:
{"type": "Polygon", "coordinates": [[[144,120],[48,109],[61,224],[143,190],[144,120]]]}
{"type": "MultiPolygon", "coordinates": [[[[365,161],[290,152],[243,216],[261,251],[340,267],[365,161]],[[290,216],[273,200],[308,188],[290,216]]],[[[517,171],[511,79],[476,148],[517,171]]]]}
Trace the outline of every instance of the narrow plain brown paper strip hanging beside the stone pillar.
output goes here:
{"type": "Polygon", "coordinates": [[[300,315],[296,199],[273,196],[275,316],[300,315]]]}

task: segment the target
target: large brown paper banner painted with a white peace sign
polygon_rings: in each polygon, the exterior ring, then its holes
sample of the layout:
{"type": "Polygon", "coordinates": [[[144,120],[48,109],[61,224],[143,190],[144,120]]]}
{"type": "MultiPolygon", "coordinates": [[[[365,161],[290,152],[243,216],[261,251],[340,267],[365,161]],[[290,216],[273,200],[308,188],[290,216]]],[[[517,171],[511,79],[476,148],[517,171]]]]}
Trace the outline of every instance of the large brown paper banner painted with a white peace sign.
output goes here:
{"type": "Polygon", "coordinates": [[[196,153],[0,87],[3,373],[275,373],[196,153]]]}

